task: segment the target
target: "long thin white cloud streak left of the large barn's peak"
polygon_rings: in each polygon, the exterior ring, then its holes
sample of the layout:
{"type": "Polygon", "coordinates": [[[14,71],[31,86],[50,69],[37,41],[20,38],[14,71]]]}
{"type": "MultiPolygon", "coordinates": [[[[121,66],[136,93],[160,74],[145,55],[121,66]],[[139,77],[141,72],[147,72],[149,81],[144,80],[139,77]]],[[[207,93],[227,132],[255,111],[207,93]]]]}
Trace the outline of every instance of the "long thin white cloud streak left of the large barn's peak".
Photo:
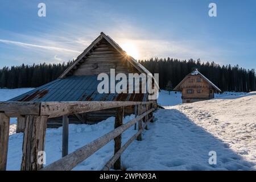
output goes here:
{"type": "Polygon", "coordinates": [[[80,53],[79,51],[75,51],[72,49],[52,47],[52,46],[40,46],[40,45],[36,45],[36,44],[28,44],[28,43],[17,42],[17,41],[12,41],[12,40],[0,39],[0,42],[6,43],[6,44],[14,44],[16,46],[22,46],[22,47],[24,47],[24,46],[25,47],[36,47],[36,48],[43,48],[43,49],[52,50],[52,51],[68,51],[68,52],[80,53]]]}

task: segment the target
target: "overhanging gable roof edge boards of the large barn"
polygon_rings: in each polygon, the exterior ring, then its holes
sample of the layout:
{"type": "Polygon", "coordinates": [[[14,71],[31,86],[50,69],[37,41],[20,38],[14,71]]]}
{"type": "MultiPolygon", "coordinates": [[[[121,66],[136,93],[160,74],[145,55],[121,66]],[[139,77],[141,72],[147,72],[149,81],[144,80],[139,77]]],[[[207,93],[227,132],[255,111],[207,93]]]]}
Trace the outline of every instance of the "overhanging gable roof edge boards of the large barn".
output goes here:
{"type": "MultiPolygon", "coordinates": [[[[139,64],[137,60],[135,60],[133,57],[127,55],[127,53],[125,51],[123,51],[123,49],[114,42],[114,40],[112,38],[110,38],[109,36],[105,35],[104,32],[101,32],[101,35],[98,36],[97,39],[95,39],[92,44],[90,44],[90,46],[88,46],[84,52],[82,52],[77,59],[74,61],[73,64],[71,64],[60,76],[59,78],[65,78],[68,76],[68,74],[70,72],[72,72],[73,69],[77,69],[79,67],[79,65],[81,64],[81,62],[83,62],[86,59],[86,56],[89,55],[89,53],[92,51],[92,49],[97,46],[98,43],[100,43],[100,41],[102,39],[105,39],[111,46],[113,46],[119,53],[121,53],[121,55],[127,57],[127,61],[129,61],[139,72],[141,73],[150,73],[145,67],[143,67],[143,65],[139,64]]],[[[153,77],[154,78],[154,77],[153,77]]],[[[155,81],[156,86],[159,88],[158,82],[155,81]]]]}

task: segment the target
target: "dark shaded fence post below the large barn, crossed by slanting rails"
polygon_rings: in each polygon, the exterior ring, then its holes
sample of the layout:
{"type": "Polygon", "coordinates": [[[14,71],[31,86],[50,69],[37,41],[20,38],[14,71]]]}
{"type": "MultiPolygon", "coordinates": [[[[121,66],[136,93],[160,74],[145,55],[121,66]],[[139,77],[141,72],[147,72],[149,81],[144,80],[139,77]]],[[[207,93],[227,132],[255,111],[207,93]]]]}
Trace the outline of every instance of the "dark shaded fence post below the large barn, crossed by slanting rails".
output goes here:
{"type": "MultiPolygon", "coordinates": [[[[125,107],[118,107],[115,112],[115,129],[121,125],[123,125],[123,112],[125,107]]],[[[115,142],[115,148],[114,148],[114,154],[117,153],[122,144],[122,134],[118,135],[114,138],[115,142]]],[[[121,157],[117,159],[117,161],[114,163],[114,169],[121,169],[121,157]]]]}

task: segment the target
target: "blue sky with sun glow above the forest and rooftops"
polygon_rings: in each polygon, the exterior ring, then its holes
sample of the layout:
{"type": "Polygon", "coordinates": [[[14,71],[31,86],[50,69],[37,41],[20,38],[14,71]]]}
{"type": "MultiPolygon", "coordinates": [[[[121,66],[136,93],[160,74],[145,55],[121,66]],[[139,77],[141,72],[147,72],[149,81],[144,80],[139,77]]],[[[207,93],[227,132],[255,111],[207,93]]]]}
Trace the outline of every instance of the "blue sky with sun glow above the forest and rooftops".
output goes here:
{"type": "Polygon", "coordinates": [[[0,0],[0,68],[72,60],[102,31],[137,49],[136,59],[200,58],[256,68],[254,0],[0,0]],[[38,16],[40,2],[46,17],[38,16]],[[208,15],[210,2],[217,17],[208,15]]]}

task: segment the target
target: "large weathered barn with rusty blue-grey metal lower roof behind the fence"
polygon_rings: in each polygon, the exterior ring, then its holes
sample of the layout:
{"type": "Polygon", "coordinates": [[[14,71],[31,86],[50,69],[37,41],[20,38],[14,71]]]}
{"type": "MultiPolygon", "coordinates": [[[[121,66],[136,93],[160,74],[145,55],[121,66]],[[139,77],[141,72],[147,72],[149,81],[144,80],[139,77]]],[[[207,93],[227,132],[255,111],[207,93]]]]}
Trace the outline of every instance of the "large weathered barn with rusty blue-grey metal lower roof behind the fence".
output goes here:
{"type": "MultiPolygon", "coordinates": [[[[100,73],[150,73],[133,57],[127,55],[109,36],[100,36],[87,47],[56,80],[40,86],[10,101],[53,102],[53,101],[148,101],[148,93],[103,93],[97,91],[100,73]]],[[[159,89],[152,77],[154,86],[159,89]]],[[[155,101],[156,103],[156,101],[155,101]]],[[[125,115],[134,113],[134,106],[125,107],[125,115]]],[[[69,123],[96,123],[115,115],[115,109],[69,115],[69,123]]],[[[22,130],[22,121],[18,121],[22,130]]],[[[62,126],[62,117],[48,119],[47,127],[62,126]]],[[[18,127],[18,128],[19,128],[18,127]]],[[[17,129],[19,130],[19,129],[17,129]]]]}

